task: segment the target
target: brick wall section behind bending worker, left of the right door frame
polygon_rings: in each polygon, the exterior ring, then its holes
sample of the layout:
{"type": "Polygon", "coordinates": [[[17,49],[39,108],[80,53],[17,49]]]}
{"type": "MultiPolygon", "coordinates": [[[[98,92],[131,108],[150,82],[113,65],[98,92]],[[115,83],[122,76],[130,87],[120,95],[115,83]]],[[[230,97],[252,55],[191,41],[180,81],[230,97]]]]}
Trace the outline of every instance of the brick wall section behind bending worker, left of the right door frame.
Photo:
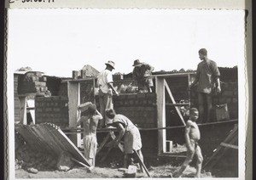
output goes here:
{"type": "Polygon", "coordinates": [[[155,93],[137,93],[113,96],[114,110],[127,116],[138,127],[157,127],[155,93]]]}

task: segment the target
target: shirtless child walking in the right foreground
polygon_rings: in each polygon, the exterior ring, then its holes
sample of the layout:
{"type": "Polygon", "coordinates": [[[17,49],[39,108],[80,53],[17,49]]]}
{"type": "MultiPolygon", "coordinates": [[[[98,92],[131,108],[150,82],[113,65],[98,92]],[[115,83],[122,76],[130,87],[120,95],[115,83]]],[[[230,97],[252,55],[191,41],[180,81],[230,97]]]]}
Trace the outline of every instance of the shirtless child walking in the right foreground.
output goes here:
{"type": "Polygon", "coordinates": [[[185,140],[187,146],[187,157],[183,162],[181,168],[174,173],[173,177],[180,177],[183,171],[189,166],[189,163],[193,160],[194,155],[196,155],[196,174],[195,177],[201,176],[201,164],[203,161],[203,157],[201,155],[201,148],[198,145],[198,141],[200,140],[200,131],[195,121],[198,119],[198,110],[196,108],[192,108],[189,110],[189,121],[187,121],[185,128],[185,140]]]}

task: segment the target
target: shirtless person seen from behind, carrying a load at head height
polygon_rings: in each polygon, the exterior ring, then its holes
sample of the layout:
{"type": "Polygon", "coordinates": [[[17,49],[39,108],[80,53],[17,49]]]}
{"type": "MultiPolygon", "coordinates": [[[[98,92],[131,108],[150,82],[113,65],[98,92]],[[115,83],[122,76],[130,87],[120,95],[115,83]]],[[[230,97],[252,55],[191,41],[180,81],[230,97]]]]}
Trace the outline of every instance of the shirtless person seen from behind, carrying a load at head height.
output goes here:
{"type": "MultiPolygon", "coordinates": [[[[98,121],[102,120],[102,115],[98,110],[96,110],[95,104],[89,104],[87,111],[88,115],[81,116],[77,121],[77,127],[79,127],[83,123],[84,156],[87,160],[89,160],[90,164],[94,167],[97,149],[96,128],[98,125],[98,121]]],[[[79,116],[80,114],[81,110],[79,109],[79,116]]]]}

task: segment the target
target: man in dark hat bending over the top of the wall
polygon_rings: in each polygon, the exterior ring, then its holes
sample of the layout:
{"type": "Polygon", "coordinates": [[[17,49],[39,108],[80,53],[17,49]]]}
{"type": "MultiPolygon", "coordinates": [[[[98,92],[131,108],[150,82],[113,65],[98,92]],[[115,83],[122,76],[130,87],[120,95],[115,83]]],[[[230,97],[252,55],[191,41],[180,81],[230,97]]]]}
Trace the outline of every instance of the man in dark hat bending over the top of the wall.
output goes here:
{"type": "Polygon", "coordinates": [[[136,59],[133,63],[134,69],[132,76],[137,81],[138,90],[140,93],[144,92],[144,87],[147,87],[149,93],[152,93],[152,87],[154,87],[151,77],[154,67],[146,63],[141,63],[139,59],[136,59]]]}

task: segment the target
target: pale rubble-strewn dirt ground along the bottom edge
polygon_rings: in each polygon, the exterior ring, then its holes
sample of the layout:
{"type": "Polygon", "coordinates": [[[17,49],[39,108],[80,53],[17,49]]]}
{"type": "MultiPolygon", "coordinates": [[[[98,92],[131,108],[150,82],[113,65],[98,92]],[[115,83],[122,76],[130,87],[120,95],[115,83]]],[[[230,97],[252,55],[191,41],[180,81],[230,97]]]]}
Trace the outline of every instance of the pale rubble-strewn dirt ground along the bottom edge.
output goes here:
{"type": "MultiPolygon", "coordinates": [[[[177,170],[178,167],[170,166],[150,166],[148,172],[151,177],[169,177],[170,174],[177,170]]],[[[183,172],[183,177],[194,177],[195,168],[188,167],[183,172]]],[[[108,168],[108,167],[95,167],[91,172],[81,166],[74,166],[73,169],[67,172],[59,171],[39,171],[37,174],[27,172],[24,169],[18,169],[15,172],[16,178],[121,178],[125,177],[125,172],[120,171],[119,168],[108,168]]],[[[146,173],[137,172],[137,177],[148,177],[146,173]]],[[[212,177],[209,172],[201,174],[201,177],[212,177]]]]}

